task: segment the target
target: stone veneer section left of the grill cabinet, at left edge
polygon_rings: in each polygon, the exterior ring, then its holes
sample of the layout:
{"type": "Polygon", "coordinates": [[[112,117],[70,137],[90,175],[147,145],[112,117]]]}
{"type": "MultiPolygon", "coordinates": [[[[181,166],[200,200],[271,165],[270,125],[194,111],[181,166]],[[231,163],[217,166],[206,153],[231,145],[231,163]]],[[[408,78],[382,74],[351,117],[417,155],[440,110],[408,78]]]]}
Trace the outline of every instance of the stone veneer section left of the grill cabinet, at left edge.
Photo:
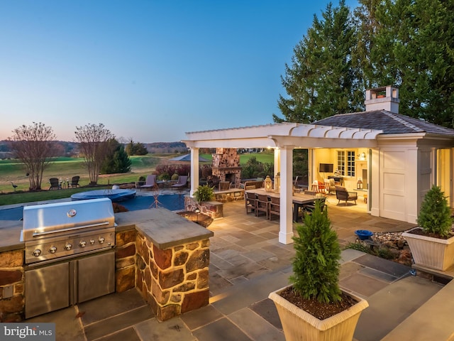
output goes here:
{"type": "Polygon", "coordinates": [[[25,317],[23,249],[0,253],[0,322],[20,322],[25,317]],[[5,298],[6,291],[12,296],[5,298]]]}

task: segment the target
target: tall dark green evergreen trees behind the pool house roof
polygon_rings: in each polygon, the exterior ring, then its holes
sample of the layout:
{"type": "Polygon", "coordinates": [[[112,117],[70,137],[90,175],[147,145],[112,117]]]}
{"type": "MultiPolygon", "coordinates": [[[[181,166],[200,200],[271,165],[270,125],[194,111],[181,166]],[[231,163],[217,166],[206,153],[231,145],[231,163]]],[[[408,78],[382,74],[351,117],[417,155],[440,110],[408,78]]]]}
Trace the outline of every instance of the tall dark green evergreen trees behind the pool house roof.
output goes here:
{"type": "Polygon", "coordinates": [[[360,112],[366,89],[399,88],[399,112],[454,127],[454,1],[328,4],[285,65],[275,122],[360,112]]]}

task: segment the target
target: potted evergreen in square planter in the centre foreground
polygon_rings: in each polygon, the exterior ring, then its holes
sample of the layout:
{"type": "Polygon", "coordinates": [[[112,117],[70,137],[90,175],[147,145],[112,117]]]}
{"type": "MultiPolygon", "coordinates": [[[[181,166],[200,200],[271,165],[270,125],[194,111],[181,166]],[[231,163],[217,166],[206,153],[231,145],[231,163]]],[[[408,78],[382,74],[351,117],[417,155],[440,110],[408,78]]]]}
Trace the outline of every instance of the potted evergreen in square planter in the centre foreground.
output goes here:
{"type": "Polygon", "coordinates": [[[341,247],[328,210],[317,200],[297,225],[290,285],[270,293],[289,340],[352,340],[368,303],[339,288],[341,247]]]}

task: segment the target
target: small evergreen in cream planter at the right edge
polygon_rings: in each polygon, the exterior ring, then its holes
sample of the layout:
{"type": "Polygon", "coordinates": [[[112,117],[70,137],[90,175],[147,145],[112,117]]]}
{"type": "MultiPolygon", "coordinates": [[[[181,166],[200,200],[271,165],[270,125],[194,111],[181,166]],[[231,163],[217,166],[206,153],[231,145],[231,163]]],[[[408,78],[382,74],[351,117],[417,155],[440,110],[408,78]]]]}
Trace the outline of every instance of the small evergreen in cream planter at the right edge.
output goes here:
{"type": "Polygon", "coordinates": [[[433,185],[428,190],[416,222],[417,227],[402,234],[409,244],[414,263],[441,271],[454,265],[453,219],[440,187],[433,185]]]}

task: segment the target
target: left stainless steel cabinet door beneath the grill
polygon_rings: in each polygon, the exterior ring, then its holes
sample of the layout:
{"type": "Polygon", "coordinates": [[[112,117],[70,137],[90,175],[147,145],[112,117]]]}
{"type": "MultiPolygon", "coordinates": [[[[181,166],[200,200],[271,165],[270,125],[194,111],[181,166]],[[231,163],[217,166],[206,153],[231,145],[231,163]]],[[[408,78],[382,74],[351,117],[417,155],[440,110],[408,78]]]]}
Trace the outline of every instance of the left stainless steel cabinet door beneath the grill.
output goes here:
{"type": "Polygon", "coordinates": [[[27,270],[26,318],[70,306],[70,263],[27,270]]]}

